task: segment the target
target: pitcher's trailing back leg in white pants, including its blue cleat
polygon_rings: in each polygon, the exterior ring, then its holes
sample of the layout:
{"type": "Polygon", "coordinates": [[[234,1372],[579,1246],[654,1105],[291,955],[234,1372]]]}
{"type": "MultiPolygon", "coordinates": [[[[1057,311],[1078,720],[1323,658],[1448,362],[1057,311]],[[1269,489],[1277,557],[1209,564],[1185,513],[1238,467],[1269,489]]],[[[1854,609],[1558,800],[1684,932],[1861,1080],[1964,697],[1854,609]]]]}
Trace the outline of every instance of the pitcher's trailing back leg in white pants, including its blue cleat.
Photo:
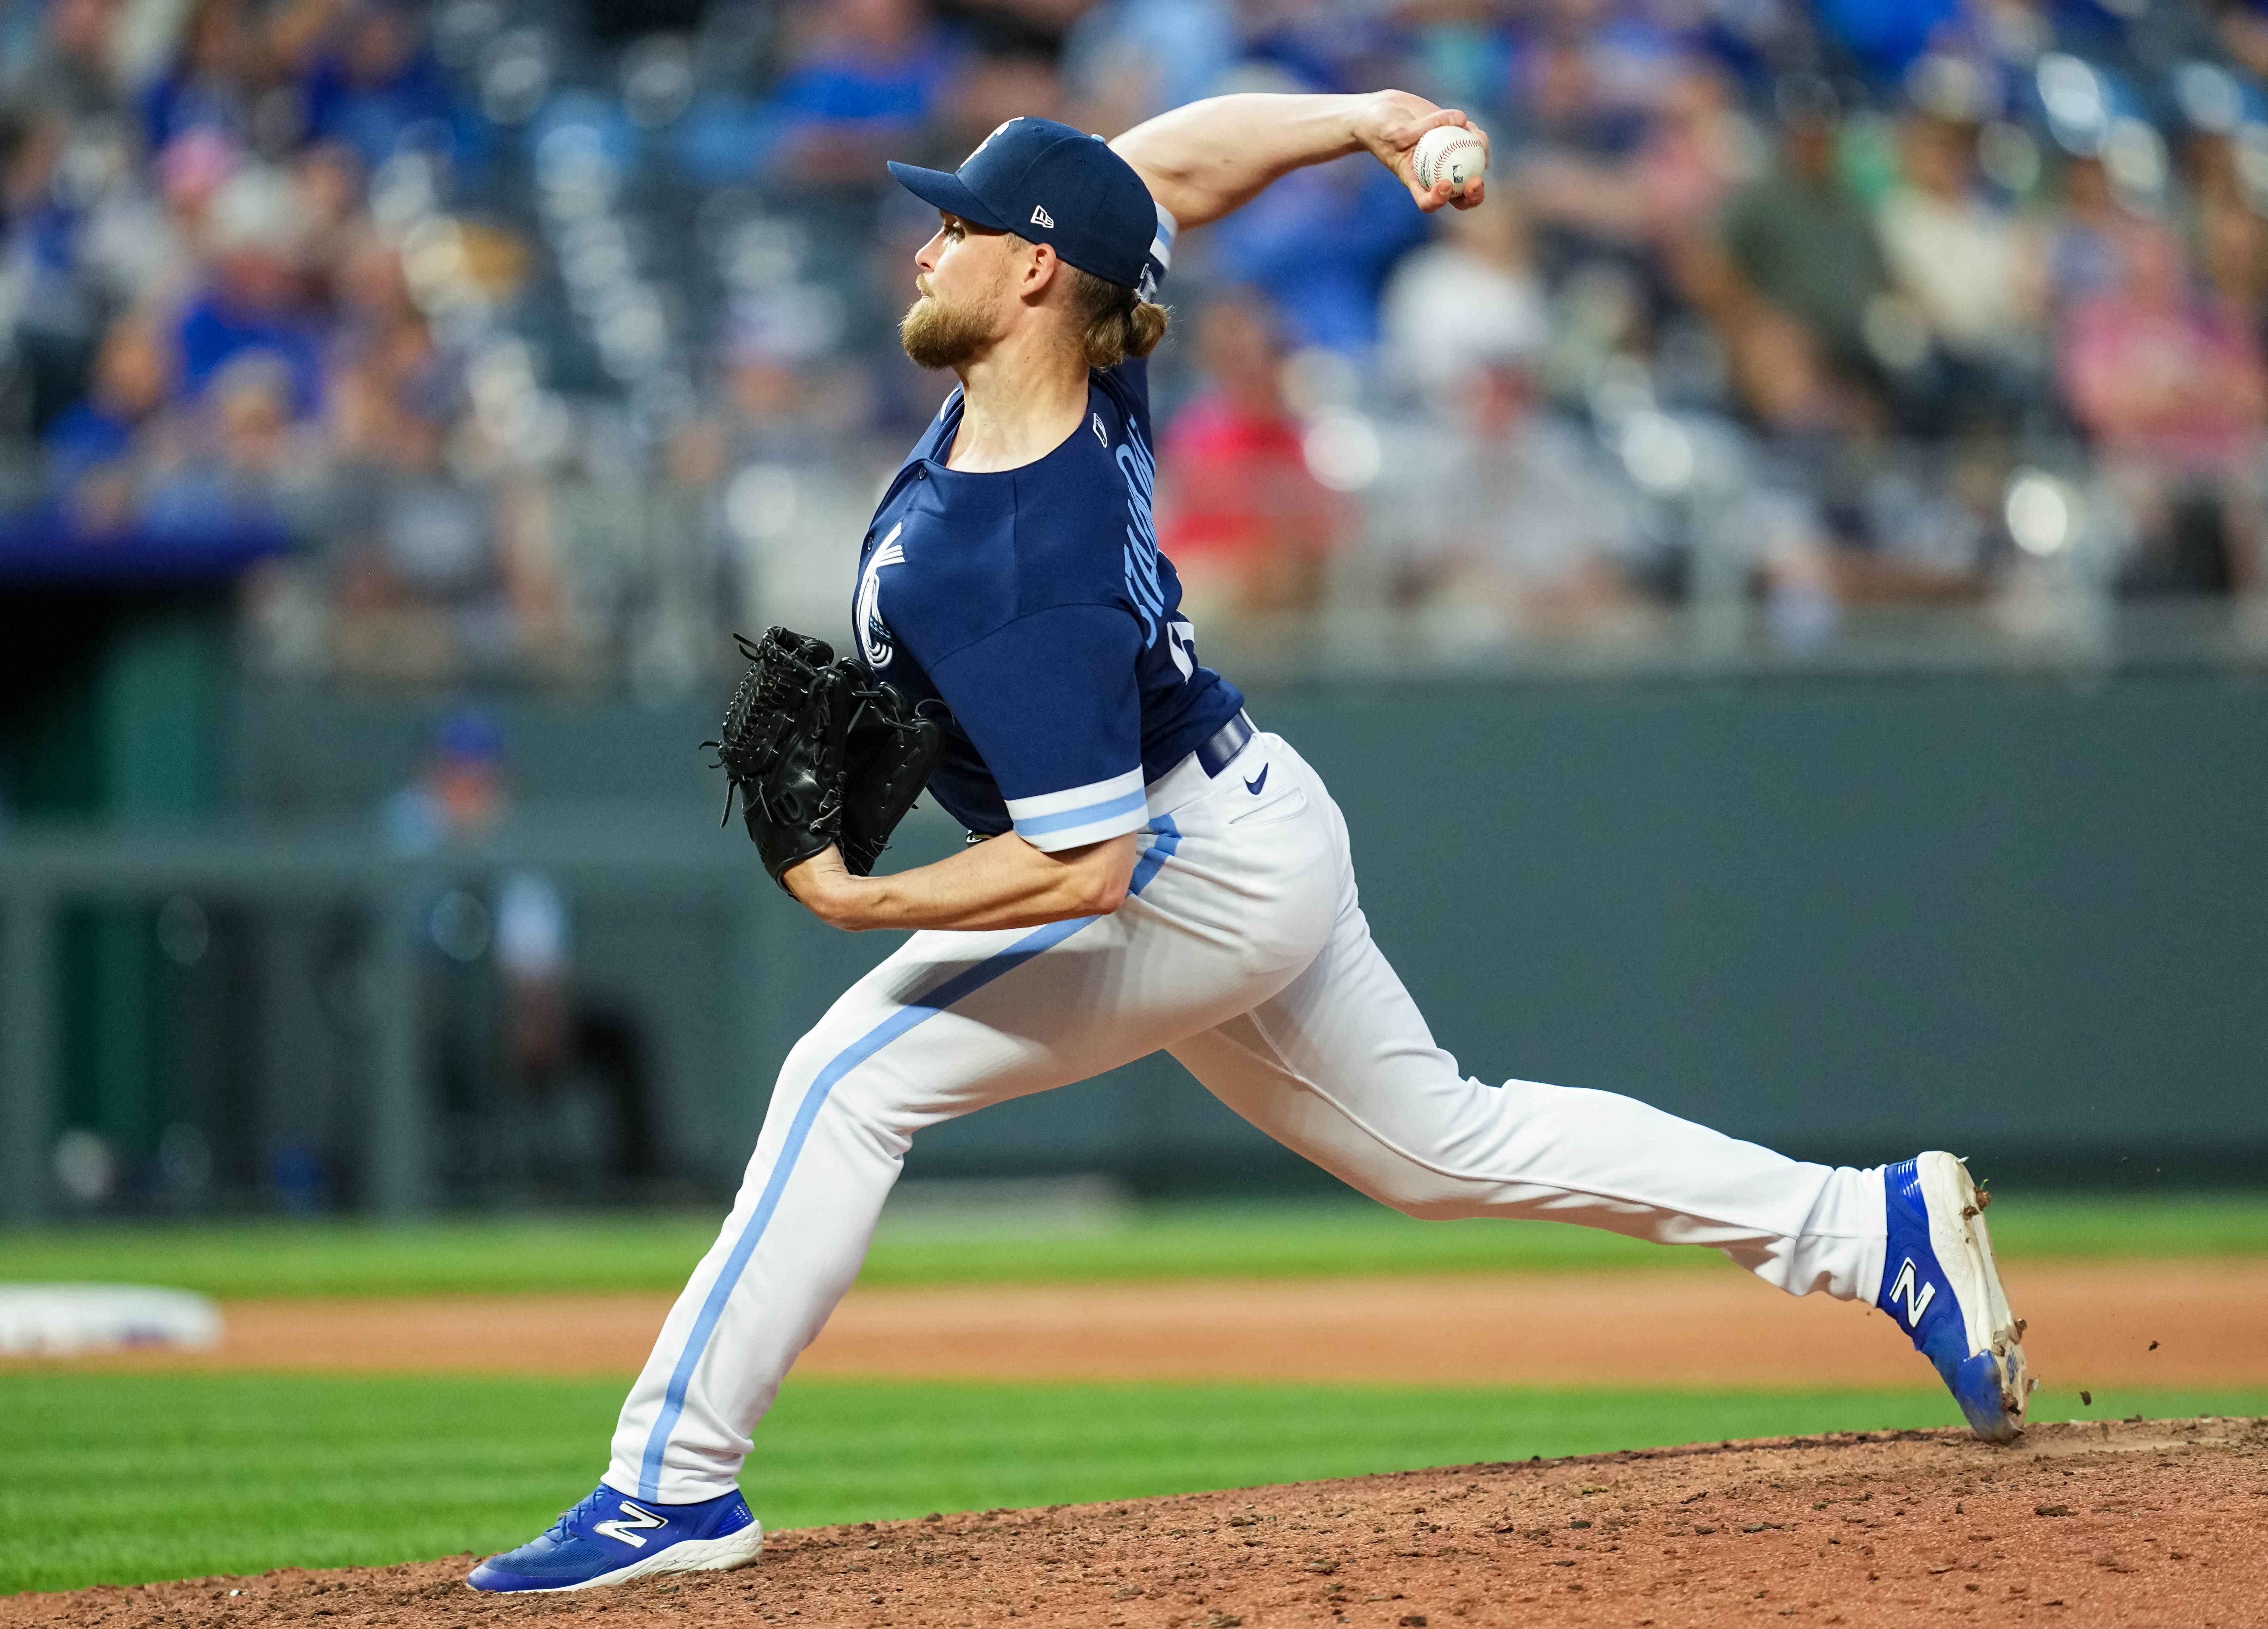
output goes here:
{"type": "Polygon", "coordinates": [[[1715,1246],[1789,1293],[1882,1307],[1980,1436],[2021,1425],[2023,1320],[1953,1155],[1821,1166],[1610,1091],[1470,1080],[1352,905],[1277,998],[1173,1050],[1232,1109],[1386,1205],[1715,1246]]]}

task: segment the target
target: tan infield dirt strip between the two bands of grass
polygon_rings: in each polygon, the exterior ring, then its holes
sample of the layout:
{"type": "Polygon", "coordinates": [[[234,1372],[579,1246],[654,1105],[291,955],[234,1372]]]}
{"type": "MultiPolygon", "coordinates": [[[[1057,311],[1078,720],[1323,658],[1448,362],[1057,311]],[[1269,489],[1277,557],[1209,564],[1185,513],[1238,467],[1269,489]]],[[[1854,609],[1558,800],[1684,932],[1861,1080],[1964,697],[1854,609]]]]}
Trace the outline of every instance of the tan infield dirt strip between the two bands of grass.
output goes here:
{"type": "MultiPolygon", "coordinates": [[[[2009,1273],[2055,1386],[2268,1384],[2268,1261],[2009,1273]]],[[[211,1352],[79,1368],[631,1377],[665,1293],[231,1302],[211,1352]]],[[[0,1364],[0,1373],[7,1366],[0,1364]]],[[[1474,1386],[1935,1386],[1901,1330],[1737,1273],[853,1289],[798,1375],[1474,1386]],[[1662,1339],[1676,1330],[1678,1339],[1662,1339]]]]}

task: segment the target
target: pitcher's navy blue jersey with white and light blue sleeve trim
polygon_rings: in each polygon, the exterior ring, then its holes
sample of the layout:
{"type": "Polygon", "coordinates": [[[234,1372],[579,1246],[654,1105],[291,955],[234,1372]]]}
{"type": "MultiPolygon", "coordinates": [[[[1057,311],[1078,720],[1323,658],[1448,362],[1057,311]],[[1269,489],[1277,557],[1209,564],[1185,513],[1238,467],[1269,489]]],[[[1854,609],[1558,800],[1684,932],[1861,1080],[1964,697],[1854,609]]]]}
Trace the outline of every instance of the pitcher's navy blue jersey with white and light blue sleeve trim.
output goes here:
{"type": "Polygon", "coordinates": [[[1198,665],[1157,551],[1150,365],[1089,374],[1080,429],[1021,470],[948,470],[959,427],[955,390],[866,529],[860,658],[950,710],[930,792],[971,830],[1036,849],[1141,830],[1143,787],[1243,706],[1198,665]]]}

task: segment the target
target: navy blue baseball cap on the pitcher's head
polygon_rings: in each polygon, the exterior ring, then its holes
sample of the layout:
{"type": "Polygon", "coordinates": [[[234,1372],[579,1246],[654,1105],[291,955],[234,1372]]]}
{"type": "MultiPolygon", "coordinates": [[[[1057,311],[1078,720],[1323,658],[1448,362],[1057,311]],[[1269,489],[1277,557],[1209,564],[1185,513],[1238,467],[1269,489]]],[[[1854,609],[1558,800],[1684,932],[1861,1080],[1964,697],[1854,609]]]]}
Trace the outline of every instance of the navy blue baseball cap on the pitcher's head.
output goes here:
{"type": "Polygon", "coordinates": [[[1052,118],[1012,118],[955,172],[912,163],[889,172],[925,204],[984,227],[1046,243],[1082,272],[1157,295],[1173,259],[1173,227],[1134,166],[1102,136],[1052,118]]]}

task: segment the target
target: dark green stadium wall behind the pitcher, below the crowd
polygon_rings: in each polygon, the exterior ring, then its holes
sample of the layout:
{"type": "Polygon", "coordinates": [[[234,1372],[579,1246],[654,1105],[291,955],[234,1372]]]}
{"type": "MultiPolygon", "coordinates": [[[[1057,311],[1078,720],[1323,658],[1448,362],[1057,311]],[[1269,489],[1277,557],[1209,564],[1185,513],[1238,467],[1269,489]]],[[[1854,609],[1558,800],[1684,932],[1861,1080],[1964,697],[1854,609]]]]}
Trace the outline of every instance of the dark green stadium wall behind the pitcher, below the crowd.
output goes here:
{"type": "MultiPolygon", "coordinates": [[[[1252,710],[1331,783],[1381,946],[1481,1078],[1631,1091],[1835,1159],[1944,1143],[2082,1182],[2268,1171],[2268,685],[1318,685],[1252,710]]],[[[742,842],[694,751],[705,706],[499,712],[522,799],[683,794],[685,842],[742,842]]],[[[429,719],[247,690],[240,803],[370,808],[429,719]]],[[[900,851],[953,842],[916,817],[900,851]]],[[[755,912],[753,1050],[730,1062],[694,1032],[699,946],[655,955],[665,923],[635,955],[599,921],[578,935],[585,971],[667,1030],[669,1139],[717,1184],[787,1046],[891,944],[771,889],[755,912]]],[[[909,1168],[1150,1189],[1304,1171],[1166,1060],[939,1128],[909,1168]]]]}

